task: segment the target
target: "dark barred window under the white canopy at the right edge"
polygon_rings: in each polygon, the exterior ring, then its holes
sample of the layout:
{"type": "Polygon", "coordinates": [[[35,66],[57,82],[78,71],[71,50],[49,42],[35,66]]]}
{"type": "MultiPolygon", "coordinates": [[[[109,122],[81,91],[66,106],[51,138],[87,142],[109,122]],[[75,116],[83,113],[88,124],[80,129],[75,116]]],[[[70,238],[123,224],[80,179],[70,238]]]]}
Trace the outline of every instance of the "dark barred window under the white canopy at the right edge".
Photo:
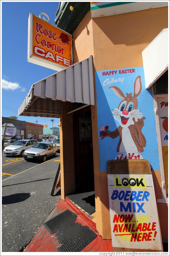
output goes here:
{"type": "Polygon", "coordinates": [[[153,84],[154,94],[168,94],[168,70],[153,84]]]}

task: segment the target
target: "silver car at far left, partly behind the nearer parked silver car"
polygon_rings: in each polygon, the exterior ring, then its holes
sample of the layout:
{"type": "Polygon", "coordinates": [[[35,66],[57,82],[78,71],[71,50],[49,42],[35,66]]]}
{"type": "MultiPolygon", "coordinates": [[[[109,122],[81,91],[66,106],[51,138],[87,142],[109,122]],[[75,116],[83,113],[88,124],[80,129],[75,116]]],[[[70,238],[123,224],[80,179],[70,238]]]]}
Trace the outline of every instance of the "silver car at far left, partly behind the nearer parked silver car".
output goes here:
{"type": "Polygon", "coordinates": [[[37,140],[32,140],[32,139],[17,140],[12,145],[7,146],[3,149],[3,155],[6,155],[6,156],[21,155],[21,156],[23,156],[24,151],[27,148],[31,148],[37,142],[38,142],[37,140]]]}

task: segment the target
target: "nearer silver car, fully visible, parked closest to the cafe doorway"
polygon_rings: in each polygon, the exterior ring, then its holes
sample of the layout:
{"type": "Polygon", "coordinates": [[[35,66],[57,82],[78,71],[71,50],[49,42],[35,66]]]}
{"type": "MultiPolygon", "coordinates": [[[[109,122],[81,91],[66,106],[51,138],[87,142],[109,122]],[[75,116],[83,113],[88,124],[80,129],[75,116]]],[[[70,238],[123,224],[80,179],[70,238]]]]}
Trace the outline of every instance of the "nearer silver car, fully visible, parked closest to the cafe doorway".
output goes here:
{"type": "Polygon", "coordinates": [[[49,156],[57,156],[57,145],[54,142],[38,142],[32,148],[24,151],[25,160],[41,160],[46,161],[49,156]]]}

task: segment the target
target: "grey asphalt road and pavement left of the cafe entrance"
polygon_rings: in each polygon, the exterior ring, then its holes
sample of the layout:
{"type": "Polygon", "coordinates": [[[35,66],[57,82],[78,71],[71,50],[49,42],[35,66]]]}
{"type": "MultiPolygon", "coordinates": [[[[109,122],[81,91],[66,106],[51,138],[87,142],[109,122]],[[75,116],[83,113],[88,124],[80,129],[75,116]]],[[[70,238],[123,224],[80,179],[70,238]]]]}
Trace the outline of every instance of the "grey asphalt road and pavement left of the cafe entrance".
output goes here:
{"type": "MultiPolygon", "coordinates": [[[[2,165],[8,163],[3,160],[2,165]]],[[[61,199],[60,188],[51,196],[59,163],[58,154],[45,163],[21,160],[2,166],[18,172],[11,176],[2,170],[2,252],[22,252],[61,199]]]]}

